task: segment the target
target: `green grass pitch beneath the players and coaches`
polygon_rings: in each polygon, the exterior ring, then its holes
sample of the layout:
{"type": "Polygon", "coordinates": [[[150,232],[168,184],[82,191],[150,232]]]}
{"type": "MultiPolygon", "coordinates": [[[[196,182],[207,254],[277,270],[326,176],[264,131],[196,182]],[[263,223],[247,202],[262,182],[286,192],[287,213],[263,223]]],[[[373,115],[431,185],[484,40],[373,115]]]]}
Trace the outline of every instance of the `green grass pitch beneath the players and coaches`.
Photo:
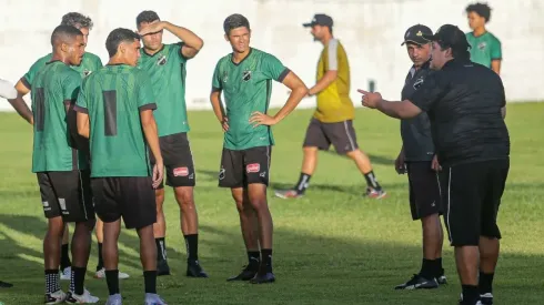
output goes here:
{"type": "MultiPolygon", "coordinates": [[[[495,276],[496,304],[544,302],[544,103],[508,105],[512,167],[498,216],[502,256],[495,276]]],[[[295,111],[274,128],[271,187],[291,186],[299,176],[301,143],[311,111],[295,111]]],[[[460,286],[452,250],[444,243],[450,284],[434,291],[396,292],[393,286],[417,272],[421,228],[412,222],[406,177],[394,172],[400,149],[399,122],[357,110],[359,144],[390,196],[362,197],[364,179],[346,159],[322,153],[304,199],[269,204],[274,217],[274,271],[278,282],[253,286],[226,283],[245,264],[238,214],[228,190],[216,187],[222,133],[211,112],[191,112],[190,139],[197,165],[200,261],[208,279],[184,276],[185,247],[179,209],[168,192],[169,261],[173,275],[159,277],[169,304],[456,304],[460,286]]],[[[42,238],[46,221],[30,172],[32,131],[17,114],[0,113],[0,279],[16,286],[0,291],[3,304],[40,304],[43,297],[42,238]]],[[[135,232],[120,241],[125,304],[142,304],[143,278],[135,232]]],[[[89,270],[94,271],[93,243],[89,270]]],[[[62,288],[68,289],[68,282],[62,288]]],[[[105,303],[104,281],[85,286],[105,303]]]]}

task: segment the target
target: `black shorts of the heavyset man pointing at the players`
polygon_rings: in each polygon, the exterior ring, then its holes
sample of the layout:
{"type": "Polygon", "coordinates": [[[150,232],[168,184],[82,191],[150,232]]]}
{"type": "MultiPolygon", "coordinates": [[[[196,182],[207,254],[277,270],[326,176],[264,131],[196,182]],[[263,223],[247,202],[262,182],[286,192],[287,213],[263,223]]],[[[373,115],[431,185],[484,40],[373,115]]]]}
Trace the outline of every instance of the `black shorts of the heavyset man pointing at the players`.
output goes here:
{"type": "Polygon", "coordinates": [[[496,224],[508,160],[444,167],[444,218],[452,246],[477,246],[480,236],[501,238],[496,224]]]}

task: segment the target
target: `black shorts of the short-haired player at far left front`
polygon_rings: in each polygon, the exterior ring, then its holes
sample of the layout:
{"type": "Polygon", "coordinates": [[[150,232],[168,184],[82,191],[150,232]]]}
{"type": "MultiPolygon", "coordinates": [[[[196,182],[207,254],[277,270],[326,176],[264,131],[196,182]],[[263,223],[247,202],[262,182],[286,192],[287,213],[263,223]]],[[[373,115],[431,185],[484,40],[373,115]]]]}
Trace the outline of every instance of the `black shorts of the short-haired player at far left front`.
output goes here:
{"type": "Polygon", "coordinates": [[[89,171],[40,172],[37,176],[47,218],[94,220],[89,171]]]}

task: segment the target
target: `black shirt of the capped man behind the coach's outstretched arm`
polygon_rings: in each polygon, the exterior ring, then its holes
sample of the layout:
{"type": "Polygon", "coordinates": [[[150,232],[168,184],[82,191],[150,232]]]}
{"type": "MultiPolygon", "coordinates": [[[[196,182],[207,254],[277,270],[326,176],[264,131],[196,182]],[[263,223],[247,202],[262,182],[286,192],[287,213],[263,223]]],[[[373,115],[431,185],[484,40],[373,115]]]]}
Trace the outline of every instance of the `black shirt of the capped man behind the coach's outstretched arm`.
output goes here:
{"type": "MultiPolygon", "coordinates": [[[[432,72],[429,61],[417,70],[412,65],[402,89],[402,100],[410,100],[412,94],[423,85],[425,78],[432,72]]],[[[401,136],[406,161],[433,160],[434,144],[431,134],[431,122],[425,112],[415,118],[402,120],[401,136]]]]}

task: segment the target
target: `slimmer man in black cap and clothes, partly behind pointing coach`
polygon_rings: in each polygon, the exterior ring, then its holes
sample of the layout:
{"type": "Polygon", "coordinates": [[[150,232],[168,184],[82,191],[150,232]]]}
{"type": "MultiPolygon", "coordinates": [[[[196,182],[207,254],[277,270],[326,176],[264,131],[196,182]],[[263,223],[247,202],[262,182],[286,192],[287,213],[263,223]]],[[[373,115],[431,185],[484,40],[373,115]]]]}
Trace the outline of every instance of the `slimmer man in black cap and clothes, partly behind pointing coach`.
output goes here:
{"type": "MultiPolygon", "coordinates": [[[[431,42],[423,35],[433,32],[425,26],[415,24],[404,34],[406,51],[414,63],[402,89],[402,100],[410,99],[424,83],[431,63],[431,42]]],[[[410,185],[410,210],[414,221],[421,220],[423,230],[423,262],[420,273],[395,289],[437,288],[445,284],[442,268],[442,244],[444,234],[440,222],[441,193],[437,176],[439,163],[434,153],[431,123],[422,112],[413,119],[401,121],[402,149],[395,161],[399,174],[407,171],[410,185]]]]}

